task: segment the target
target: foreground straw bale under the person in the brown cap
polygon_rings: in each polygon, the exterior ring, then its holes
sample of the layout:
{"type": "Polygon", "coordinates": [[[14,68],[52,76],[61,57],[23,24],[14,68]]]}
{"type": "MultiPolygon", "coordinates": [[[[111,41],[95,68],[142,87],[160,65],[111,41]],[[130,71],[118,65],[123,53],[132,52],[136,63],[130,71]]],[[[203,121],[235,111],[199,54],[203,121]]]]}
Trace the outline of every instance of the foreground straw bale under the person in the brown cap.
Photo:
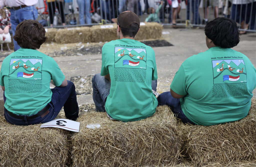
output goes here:
{"type": "Polygon", "coordinates": [[[105,112],[84,112],[78,121],[80,132],[71,139],[73,166],[162,166],[180,156],[176,118],[166,106],[135,122],[113,121],[105,112]],[[97,123],[98,129],[86,127],[97,123]]]}

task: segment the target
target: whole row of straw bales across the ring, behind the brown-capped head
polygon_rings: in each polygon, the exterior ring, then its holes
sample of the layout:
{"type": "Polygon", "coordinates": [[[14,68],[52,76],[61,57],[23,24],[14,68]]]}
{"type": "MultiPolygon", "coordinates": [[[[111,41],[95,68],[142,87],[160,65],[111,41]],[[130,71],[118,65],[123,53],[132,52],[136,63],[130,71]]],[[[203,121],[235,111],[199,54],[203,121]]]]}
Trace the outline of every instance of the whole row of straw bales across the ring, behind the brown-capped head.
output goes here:
{"type": "MultiPolygon", "coordinates": [[[[109,24],[108,24],[109,25],[109,24]]],[[[48,40],[46,42],[57,43],[76,43],[76,42],[106,42],[117,40],[116,26],[113,28],[101,28],[101,25],[95,25],[92,27],[74,27],[67,29],[47,29],[46,36],[48,40]]],[[[140,31],[136,34],[135,40],[147,40],[147,39],[159,39],[162,38],[163,27],[159,23],[146,22],[145,25],[140,26],[140,31]]]]}

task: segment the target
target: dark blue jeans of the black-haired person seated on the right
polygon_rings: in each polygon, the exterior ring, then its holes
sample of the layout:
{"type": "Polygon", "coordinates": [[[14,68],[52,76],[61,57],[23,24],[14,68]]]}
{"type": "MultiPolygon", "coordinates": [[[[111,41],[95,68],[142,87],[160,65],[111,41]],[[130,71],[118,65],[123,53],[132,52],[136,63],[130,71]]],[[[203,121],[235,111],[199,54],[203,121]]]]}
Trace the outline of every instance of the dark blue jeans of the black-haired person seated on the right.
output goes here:
{"type": "Polygon", "coordinates": [[[176,115],[177,118],[181,119],[184,123],[190,123],[196,125],[194,122],[190,121],[181,109],[179,99],[172,97],[170,92],[164,92],[159,94],[157,97],[158,105],[168,105],[170,106],[172,112],[176,115]]]}

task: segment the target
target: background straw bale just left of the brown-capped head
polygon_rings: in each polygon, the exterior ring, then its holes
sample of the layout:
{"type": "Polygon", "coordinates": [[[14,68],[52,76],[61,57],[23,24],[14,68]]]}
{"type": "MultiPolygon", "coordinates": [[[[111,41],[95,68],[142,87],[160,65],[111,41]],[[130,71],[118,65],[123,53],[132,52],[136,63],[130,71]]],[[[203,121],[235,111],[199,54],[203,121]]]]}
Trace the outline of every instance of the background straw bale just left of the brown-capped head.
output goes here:
{"type": "Polygon", "coordinates": [[[101,25],[92,26],[90,28],[91,42],[105,42],[105,41],[117,40],[118,39],[116,35],[117,24],[114,23],[110,25],[113,25],[113,28],[101,28],[101,25]]]}

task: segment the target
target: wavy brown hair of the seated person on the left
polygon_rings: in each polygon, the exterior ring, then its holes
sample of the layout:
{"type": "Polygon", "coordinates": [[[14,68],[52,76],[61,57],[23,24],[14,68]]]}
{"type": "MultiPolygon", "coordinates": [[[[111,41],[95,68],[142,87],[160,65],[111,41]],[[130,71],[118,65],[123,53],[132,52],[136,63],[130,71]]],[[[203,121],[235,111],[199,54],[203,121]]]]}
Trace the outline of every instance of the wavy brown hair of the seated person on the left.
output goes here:
{"type": "Polygon", "coordinates": [[[24,20],[16,27],[13,39],[20,47],[39,49],[46,41],[45,28],[36,20],[24,20]]]}

